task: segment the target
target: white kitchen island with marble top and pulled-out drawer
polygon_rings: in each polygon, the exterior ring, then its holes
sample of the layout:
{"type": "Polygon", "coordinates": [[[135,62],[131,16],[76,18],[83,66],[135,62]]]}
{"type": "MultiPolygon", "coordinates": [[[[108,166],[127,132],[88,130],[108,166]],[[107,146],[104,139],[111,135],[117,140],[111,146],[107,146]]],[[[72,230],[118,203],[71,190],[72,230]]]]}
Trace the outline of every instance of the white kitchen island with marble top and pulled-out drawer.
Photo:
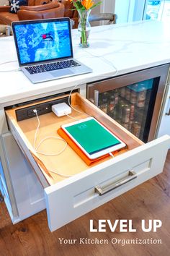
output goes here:
{"type": "MultiPolygon", "coordinates": [[[[0,66],[1,71],[6,71],[1,72],[0,95],[0,153],[3,166],[1,191],[13,223],[47,208],[51,231],[160,173],[169,147],[169,137],[143,145],[143,142],[110,120],[106,114],[102,114],[102,111],[97,110],[89,101],[81,99],[81,103],[84,103],[89,111],[92,110],[97,116],[102,116],[107,124],[119,128],[122,135],[128,136],[130,150],[97,166],[86,168],[81,173],[78,171],[69,179],[61,180],[56,184],[50,182],[45,171],[41,170],[42,166],[40,168],[40,161],[37,163],[38,161],[32,158],[32,146],[28,146],[29,143],[23,136],[24,132],[13,119],[12,109],[21,108],[26,102],[35,103],[46,100],[47,97],[69,93],[73,88],[78,89],[79,93],[86,97],[86,84],[90,82],[107,80],[110,77],[119,77],[145,69],[149,72],[150,68],[164,65],[167,69],[170,63],[170,31],[169,27],[161,22],[146,21],[92,27],[90,47],[86,49],[78,46],[78,31],[73,30],[72,33],[74,57],[91,67],[93,72],[35,85],[18,70],[13,38],[0,40],[1,63],[6,62],[0,66]],[[8,72],[9,70],[12,71],[8,72]],[[132,173],[129,170],[133,168],[136,174],[131,181],[132,173]],[[112,174],[113,169],[115,174],[112,174]],[[125,178],[123,187],[116,188],[113,193],[109,192],[104,197],[97,195],[94,189],[97,184],[105,184],[107,180],[114,182],[122,178],[125,178]],[[128,184],[125,182],[126,179],[128,184]],[[63,206],[58,209],[56,205],[63,206]]],[[[166,78],[164,91],[169,86],[168,72],[166,78]]],[[[162,106],[164,106],[164,98],[162,98],[162,106]]],[[[31,129],[31,125],[29,127],[31,129]]],[[[56,180],[58,179],[57,177],[56,180]]]]}

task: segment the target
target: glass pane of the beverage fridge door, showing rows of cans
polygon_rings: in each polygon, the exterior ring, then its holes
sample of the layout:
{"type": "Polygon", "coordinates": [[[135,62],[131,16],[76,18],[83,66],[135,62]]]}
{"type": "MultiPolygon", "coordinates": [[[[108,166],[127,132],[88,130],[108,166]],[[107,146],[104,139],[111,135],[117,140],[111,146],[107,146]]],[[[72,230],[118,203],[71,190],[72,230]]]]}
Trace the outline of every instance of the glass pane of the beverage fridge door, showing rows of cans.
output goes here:
{"type": "Polygon", "coordinates": [[[149,79],[99,93],[97,105],[133,135],[147,142],[157,90],[158,80],[149,79]]]}

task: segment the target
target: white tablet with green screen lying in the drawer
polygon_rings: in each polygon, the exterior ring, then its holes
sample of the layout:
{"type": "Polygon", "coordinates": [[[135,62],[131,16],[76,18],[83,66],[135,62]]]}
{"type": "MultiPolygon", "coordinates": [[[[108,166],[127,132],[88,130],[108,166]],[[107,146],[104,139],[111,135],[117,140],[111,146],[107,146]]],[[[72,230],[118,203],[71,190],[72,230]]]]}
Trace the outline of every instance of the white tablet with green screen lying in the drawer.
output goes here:
{"type": "Polygon", "coordinates": [[[88,117],[61,128],[90,159],[125,148],[126,144],[94,117],[88,117]]]}

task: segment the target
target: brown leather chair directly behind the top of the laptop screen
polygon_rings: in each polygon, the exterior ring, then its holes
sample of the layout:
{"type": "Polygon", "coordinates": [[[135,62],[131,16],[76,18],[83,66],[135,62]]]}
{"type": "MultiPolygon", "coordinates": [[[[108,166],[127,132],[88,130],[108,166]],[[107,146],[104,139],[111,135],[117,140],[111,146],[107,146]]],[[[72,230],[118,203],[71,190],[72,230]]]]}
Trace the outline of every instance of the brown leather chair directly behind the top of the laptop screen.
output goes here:
{"type": "Polygon", "coordinates": [[[64,6],[58,1],[37,6],[22,6],[17,12],[19,20],[40,20],[64,16],[64,6]]]}

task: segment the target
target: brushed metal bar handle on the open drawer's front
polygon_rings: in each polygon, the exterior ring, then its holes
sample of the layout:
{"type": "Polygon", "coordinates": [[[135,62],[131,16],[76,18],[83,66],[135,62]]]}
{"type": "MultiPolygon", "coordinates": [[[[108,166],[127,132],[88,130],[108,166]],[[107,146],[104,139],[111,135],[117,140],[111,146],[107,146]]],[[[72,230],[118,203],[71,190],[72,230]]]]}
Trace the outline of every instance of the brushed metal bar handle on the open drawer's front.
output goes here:
{"type": "Polygon", "coordinates": [[[109,184],[108,186],[104,186],[104,187],[101,187],[101,186],[95,187],[95,192],[97,192],[99,195],[104,195],[107,192],[109,192],[113,189],[116,189],[117,187],[120,187],[123,184],[128,183],[136,178],[137,178],[137,174],[135,173],[135,171],[129,171],[128,176],[125,177],[124,179],[120,179],[120,181],[118,181],[118,182],[109,184]]]}

